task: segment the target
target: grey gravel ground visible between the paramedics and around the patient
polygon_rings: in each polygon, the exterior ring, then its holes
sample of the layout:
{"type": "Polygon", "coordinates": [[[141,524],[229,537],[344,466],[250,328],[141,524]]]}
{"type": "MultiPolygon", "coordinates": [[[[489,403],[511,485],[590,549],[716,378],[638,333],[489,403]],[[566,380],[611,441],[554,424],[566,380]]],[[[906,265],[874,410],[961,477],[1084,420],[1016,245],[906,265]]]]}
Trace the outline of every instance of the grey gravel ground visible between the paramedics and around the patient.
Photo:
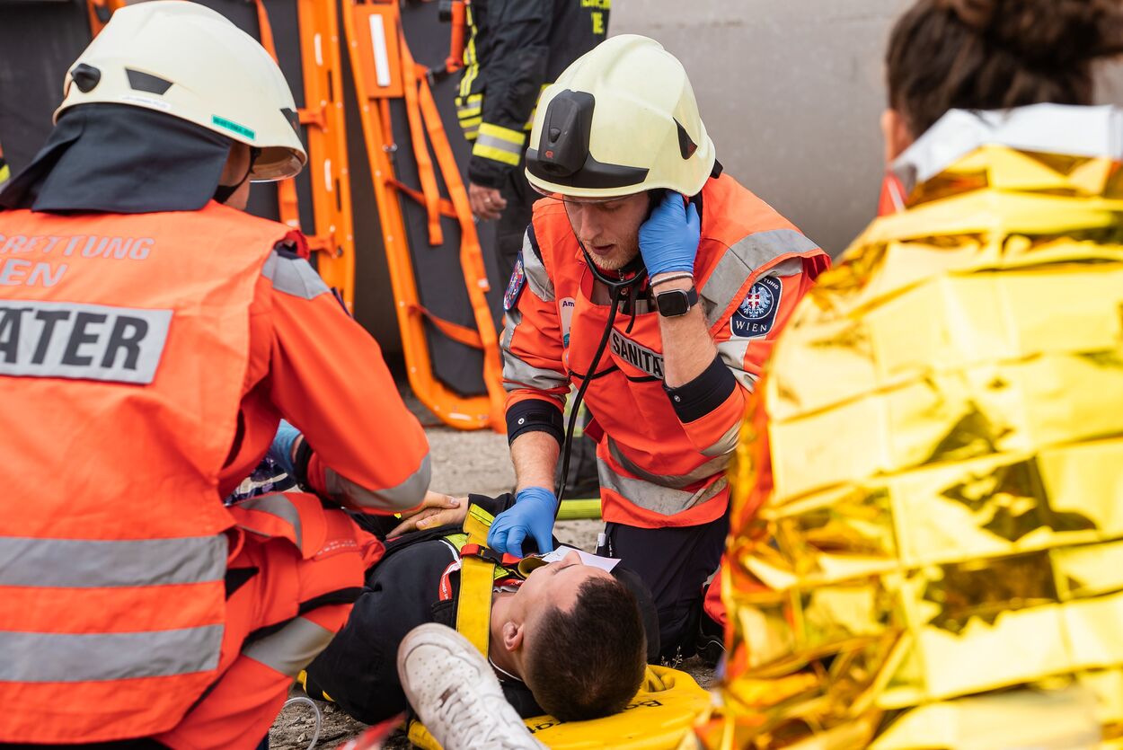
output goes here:
{"type": "MultiPolygon", "coordinates": [[[[405,394],[403,394],[405,395],[405,394]]],[[[409,399],[408,399],[409,401],[409,399]]],[[[411,404],[412,405],[412,404],[411,404]]],[[[433,424],[432,418],[414,409],[426,424],[432,450],[432,488],[448,494],[475,492],[495,495],[510,492],[514,485],[514,470],[506,452],[506,438],[494,432],[462,432],[433,424]]],[[[592,551],[596,546],[600,521],[559,521],[555,530],[558,539],[573,547],[592,551]]],[[[681,667],[694,676],[699,684],[709,687],[713,670],[699,659],[691,659],[681,667]]],[[[294,692],[293,695],[302,695],[294,692]]],[[[335,748],[340,742],[359,734],[365,728],[330,704],[319,704],[323,725],[317,748],[335,748]]],[[[274,750],[304,750],[312,739],[316,721],[308,704],[296,704],[283,711],[270,731],[270,747],[274,750]]],[[[404,734],[398,732],[386,748],[410,748],[404,734]]]]}

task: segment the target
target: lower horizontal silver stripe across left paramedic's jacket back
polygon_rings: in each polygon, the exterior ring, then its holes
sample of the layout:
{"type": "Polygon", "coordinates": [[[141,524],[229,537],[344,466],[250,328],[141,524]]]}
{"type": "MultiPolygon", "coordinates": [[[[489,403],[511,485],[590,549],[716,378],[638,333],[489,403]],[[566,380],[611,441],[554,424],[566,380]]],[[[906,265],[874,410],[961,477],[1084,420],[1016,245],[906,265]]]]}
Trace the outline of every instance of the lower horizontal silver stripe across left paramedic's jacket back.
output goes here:
{"type": "MultiPolygon", "coordinates": [[[[174,600],[167,602],[175,606],[174,600]]],[[[222,625],[133,633],[0,631],[0,682],[84,683],[218,667],[222,625]]]]}

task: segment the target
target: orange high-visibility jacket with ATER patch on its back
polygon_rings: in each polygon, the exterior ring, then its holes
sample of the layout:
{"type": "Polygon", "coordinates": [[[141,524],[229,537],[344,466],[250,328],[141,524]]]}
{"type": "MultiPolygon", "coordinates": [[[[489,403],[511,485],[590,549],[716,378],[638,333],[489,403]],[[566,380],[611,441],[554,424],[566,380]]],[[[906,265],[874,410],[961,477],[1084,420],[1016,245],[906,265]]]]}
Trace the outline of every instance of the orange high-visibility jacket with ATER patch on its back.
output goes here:
{"type": "Polygon", "coordinates": [[[321,496],[421,500],[420,426],[286,236],[217,203],[0,212],[0,742],[153,734],[214,682],[221,497],[280,415],[321,496]]]}

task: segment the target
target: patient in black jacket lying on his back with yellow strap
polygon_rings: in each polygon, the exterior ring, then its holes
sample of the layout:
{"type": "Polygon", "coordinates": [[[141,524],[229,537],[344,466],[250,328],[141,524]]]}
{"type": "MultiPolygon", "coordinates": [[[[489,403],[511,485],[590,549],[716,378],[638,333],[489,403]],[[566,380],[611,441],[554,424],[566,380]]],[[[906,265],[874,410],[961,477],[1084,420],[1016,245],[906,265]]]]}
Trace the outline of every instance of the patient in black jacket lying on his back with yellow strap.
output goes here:
{"type": "MultiPolygon", "coordinates": [[[[398,647],[413,628],[437,622],[490,659],[523,717],[583,721],[623,710],[649,651],[658,651],[655,606],[638,576],[622,565],[611,573],[585,565],[576,551],[549,564],[500,556],[482,542],[512,495],[436,497],[459,507],[403,524],[424,530],[386,542],[347,625],[308,668],[309,695],[328,696],[366,723],[404,711],[398,647]]],[[[377,531],[381,519],[364,521],[377,531]]]]}

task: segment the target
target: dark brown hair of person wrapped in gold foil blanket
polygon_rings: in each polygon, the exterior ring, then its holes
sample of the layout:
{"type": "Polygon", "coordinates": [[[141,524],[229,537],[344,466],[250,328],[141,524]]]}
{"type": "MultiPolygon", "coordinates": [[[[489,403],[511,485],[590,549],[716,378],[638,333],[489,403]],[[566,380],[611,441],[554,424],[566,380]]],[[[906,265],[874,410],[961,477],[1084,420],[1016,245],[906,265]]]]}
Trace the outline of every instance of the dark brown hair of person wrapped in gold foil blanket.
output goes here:
{"type": "Polygon", "coordinates": [[[1123,52],[1120,0],[919,0],[886,55],[913,136],[950,109],[1090,104],[1093,63],[1123,52]]]}

